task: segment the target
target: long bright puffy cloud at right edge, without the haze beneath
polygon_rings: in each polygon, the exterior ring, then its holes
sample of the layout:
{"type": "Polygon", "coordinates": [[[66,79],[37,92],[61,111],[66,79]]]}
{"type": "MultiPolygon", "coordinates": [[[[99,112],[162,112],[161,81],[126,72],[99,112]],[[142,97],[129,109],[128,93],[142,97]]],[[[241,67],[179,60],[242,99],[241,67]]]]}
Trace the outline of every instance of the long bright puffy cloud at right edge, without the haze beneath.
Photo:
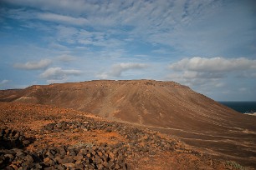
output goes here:
{"type": "Polygon", "coordinates": [[[185,58],[179,62],[169,65],[173,70],[190,70],[195,72],[233,72],[248,69],[256,69],[256,60],[244,57],[223,58],[223,57],[192,57],[185,58]]]}

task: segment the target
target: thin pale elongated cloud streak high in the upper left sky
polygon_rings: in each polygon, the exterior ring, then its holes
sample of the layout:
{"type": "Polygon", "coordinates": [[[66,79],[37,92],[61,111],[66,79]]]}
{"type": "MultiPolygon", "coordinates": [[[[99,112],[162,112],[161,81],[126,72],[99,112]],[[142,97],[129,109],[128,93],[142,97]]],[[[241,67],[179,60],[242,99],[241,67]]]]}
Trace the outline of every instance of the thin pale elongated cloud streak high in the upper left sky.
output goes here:
{"type": "Polygon", "coordinates": [[[65,23],[71,25],[85,25],[88,23],[87,19],[85,18],[73,18],[69,16],[59,15],[56,13],[38,13],[37,18],[44,21],[65,23]]]}

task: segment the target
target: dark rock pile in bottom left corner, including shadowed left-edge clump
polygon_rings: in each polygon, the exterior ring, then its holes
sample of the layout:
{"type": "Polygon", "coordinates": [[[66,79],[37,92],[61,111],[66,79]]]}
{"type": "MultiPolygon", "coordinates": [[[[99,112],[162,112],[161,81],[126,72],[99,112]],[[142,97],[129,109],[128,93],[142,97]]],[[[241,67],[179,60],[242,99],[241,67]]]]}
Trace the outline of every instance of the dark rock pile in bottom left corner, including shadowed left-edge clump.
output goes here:
{"type": "Polygon", "coordinates": [[[13,139],[13,135],[22,133],[9,128],[1,129],[1,132],[0,169],[127,169],[124,154],[127,148],[121,143],[113,146],[80,143],[31,153],[23,149],[26,146],[23,142],[27,141],[23,140],[26,139],[23,135],[13,139]]]}

